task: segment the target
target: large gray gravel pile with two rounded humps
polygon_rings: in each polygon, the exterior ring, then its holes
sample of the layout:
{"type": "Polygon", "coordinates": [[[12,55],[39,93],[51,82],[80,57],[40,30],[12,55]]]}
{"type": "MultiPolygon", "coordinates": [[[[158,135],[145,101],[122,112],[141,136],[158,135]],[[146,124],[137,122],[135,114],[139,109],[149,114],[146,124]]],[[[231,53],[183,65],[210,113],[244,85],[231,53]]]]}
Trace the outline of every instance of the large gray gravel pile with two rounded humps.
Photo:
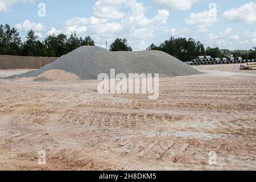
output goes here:
{"type": "Polygon", "coordinates": [[[159,73],[160,77],[200,74],[182,61],[160,51],[110,52],[97,46],[82,46],[51,64],[15,77],[37,77],[52,69],[75,73],[81,80],[97,79],[100,73],[159,73]]]}

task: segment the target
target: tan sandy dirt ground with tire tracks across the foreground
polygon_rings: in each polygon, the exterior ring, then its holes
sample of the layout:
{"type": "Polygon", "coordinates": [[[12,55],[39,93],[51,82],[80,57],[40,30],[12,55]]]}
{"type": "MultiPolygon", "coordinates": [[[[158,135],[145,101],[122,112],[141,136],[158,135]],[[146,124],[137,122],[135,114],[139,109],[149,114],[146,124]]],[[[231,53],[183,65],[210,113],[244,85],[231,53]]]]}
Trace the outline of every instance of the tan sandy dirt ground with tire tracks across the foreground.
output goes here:
{"type": "Polygon", "coordinates": [[[211,67],[161,78],[155,101],[99,95],[97,81],[0,80],[0,170],[255,170],[256,75],[211,67]]]}

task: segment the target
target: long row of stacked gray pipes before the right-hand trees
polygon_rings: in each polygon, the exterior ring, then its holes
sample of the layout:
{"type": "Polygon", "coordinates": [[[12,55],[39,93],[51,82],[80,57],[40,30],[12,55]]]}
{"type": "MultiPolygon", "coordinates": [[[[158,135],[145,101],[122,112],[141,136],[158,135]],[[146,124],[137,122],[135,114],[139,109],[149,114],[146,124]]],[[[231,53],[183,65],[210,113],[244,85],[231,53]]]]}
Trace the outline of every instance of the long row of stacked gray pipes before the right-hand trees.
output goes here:
{"type": "Polygon", "coordinates": [[[241,64],[256,63],[256,59],[243,60],[242,57],[212,58],[211,56],[198,56],[197,59],[186,62],[188,65],[214,65],[214,64],[241,64]]]}

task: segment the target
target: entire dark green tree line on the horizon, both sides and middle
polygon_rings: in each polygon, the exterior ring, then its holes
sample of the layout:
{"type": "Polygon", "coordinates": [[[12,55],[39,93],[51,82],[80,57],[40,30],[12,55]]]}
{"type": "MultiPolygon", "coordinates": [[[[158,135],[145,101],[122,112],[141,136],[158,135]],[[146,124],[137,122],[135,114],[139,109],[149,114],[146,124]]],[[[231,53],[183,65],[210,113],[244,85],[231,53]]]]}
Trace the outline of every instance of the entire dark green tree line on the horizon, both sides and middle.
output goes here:
{"type": "MultiPolygon", "coordinates": [[[[0,25],[0,55],[60,57],[80,46],[95,46],[95,43],[89,35],[85,38],[79,38],[76,32],[72,32],[69,36],[52,34],[40,41],[32,30],[27,32],[26,41],[22,42],[16,28],[11,28],[9,24],[0,25]]],[[[255,47],[250,50],[236,51],[218,47],[205,48],[204,44],[196,42],[192,38],[171,37],[159,46],[151,44],[147,49],[166,52],[181,61],[196,59],[197,56],[201,55],[212,57],[241,56],[243,59],[256,59],[255,47]]],[[[117,38],[110,45],[110,51],[133,51],[133,49],[127,43],[127,39],[117,38]]]]}

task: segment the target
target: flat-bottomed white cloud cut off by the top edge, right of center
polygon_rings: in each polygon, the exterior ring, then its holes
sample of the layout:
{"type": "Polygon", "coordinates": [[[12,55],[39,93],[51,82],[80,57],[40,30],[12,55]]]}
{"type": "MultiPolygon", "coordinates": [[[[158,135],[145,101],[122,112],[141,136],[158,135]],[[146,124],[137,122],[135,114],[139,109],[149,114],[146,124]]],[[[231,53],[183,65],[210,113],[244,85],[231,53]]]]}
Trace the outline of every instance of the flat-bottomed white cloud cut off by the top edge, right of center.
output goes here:
{"type": "Polygon", "coordinates": [[[157,5],[162,7],[168,7],[174,10],[188,10],[191,9],[193,3],[199,2],[200,0],[155,0],[157,5]]]}

